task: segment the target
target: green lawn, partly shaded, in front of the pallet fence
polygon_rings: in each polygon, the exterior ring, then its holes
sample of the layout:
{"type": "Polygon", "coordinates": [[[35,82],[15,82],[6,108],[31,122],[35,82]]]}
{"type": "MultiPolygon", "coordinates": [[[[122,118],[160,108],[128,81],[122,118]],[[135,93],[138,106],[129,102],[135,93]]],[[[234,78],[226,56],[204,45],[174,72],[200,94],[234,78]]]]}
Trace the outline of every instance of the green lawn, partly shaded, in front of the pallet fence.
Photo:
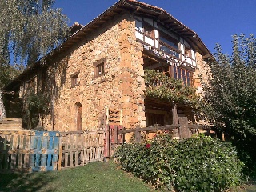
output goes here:
{"type": "Polygon", "coordinates": [[[114,162],[54,172],[0,174],[0,191],[155,191],[142,180],[118,170],[114,162]]]}

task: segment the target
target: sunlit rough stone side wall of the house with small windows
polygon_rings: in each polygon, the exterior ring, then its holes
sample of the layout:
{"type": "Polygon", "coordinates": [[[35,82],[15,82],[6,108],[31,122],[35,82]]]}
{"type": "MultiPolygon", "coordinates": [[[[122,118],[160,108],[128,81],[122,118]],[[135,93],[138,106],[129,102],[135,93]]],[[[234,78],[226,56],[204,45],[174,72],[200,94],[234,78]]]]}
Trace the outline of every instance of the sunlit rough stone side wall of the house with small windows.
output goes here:
{"type": "Polygon", "coordinates": [[[46,130],[77,130],[79,106],[82,130],[97,129],[106,108],[122,109],[126,128],[146,126],[142,46],[134,30],[129,14],[114,18],[38,74],[38,87],[50,99],[42,121],[46,130]],[[101,59],[106,73],[95,77],[94,63],[101,59]],[[77,86],[71,86],[74,75],[77,86]]]}

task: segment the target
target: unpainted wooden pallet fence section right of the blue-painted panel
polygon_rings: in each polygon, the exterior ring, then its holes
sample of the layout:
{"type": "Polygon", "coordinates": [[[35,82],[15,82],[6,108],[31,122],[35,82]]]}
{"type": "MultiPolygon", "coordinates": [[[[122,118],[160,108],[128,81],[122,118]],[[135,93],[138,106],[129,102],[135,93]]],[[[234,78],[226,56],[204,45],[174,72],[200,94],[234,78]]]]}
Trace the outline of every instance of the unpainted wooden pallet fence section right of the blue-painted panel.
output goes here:
{"type": "Polygon", "coordinates": [[[104,158],[104,138],[105,131],[103,129],[62,132],[58,170],[72,166],[83,166],[88,162],[102,161],[104,158]]]}

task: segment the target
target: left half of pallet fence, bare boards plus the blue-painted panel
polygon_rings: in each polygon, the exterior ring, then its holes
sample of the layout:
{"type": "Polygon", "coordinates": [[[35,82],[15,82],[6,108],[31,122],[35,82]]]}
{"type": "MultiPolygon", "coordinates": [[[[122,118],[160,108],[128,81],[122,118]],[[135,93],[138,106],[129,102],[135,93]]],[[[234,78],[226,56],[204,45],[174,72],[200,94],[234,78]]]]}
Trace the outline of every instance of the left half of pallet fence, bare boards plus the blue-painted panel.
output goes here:
{"type": "Polygon", "coordinates": [[[0,171],[57,170],[57,131],[0,131],[0,171]]]}

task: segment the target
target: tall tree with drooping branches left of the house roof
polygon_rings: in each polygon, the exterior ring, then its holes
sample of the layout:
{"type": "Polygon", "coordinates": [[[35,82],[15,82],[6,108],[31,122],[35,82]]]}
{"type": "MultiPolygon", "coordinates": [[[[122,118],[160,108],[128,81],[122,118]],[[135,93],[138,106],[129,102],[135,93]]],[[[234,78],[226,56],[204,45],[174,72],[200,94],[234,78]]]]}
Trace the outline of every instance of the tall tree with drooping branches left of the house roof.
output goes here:
{"type": "Polygon", "coordinates": [[[68,19],[53,4],[54,0],[0,1],[0,87],[15,72],[10,58],[29,66],[64,41],[68,19]]]}

